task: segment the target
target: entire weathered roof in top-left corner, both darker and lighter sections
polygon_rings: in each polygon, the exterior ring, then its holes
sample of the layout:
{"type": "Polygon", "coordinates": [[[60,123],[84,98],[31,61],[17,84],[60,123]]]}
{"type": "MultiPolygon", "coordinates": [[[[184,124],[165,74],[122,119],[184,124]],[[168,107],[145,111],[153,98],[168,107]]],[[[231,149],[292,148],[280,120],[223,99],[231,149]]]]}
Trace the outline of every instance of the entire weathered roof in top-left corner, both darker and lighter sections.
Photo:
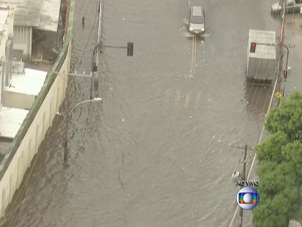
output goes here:
{"type": "Polygon", "coordinates": [[[14,25],[57,31],[60,0],[0,0],[0,5],[15,8],[14,25]]]}

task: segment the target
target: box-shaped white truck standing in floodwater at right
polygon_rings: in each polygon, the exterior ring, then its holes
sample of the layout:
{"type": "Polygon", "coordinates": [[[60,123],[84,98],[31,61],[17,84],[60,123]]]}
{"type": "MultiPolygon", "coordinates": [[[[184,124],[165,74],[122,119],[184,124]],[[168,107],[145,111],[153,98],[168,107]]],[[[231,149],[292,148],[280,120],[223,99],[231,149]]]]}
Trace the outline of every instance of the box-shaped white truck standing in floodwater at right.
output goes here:
{"type": "Polygon", "coordinates": [[[250,29],[247,39],[247,78],[272,81],[276,67],[276,32],[250,29]]]}

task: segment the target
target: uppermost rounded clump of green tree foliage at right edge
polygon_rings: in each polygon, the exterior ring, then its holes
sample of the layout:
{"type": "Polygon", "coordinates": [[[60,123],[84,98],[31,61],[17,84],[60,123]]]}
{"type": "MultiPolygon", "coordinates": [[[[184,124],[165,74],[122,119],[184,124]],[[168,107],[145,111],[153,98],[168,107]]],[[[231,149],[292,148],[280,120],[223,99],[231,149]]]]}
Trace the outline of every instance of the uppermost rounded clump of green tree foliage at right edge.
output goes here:
{"type": "Polygon", "coordinates": [[[272,134],[283,131],[290,140],[302,138],[302,94],[295,92],[282,99],[278,108],[271,109],[265,128],[272,134]]]}

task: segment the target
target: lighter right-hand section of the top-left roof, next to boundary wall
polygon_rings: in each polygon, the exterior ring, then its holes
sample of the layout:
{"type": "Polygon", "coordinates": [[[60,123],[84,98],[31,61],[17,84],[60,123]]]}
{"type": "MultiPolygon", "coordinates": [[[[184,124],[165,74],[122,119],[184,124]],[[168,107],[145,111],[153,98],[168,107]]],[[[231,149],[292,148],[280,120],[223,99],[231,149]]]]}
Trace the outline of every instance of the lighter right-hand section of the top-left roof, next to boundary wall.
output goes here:
{"type": "Polygon", "coordinates": [[[38,29],[57,32],[61,0],[42,0],[38,29]]]}

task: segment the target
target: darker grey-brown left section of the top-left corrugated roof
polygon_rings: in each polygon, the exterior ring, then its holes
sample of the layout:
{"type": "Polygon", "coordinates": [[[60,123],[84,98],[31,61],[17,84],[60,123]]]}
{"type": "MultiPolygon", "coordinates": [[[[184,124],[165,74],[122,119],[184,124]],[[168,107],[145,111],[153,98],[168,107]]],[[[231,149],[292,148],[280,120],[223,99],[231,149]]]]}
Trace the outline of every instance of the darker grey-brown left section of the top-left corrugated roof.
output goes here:
{"type": "Polygon", "coordinates": [[[39,26],[42,0],[0,0],[0,4],[15,8],[14,25],[39,26]]]}

